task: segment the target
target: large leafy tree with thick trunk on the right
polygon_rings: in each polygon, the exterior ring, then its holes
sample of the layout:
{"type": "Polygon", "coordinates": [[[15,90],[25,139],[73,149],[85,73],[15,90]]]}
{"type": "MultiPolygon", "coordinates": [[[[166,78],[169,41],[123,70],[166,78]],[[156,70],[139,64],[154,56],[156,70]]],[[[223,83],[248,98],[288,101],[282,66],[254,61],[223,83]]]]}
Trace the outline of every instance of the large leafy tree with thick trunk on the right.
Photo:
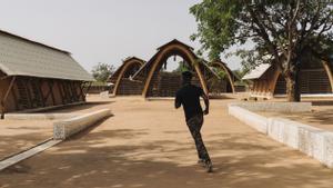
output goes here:
{"type": "Polygon", "coordinates": [[[203,0],[191,7],[198,32],[191,36],[211,60],[234,44],[245,67],[270,62],[286,80],[289,101],[300,101],[301,57],[332,48],[333,4],[323,0],[203,0]]]}

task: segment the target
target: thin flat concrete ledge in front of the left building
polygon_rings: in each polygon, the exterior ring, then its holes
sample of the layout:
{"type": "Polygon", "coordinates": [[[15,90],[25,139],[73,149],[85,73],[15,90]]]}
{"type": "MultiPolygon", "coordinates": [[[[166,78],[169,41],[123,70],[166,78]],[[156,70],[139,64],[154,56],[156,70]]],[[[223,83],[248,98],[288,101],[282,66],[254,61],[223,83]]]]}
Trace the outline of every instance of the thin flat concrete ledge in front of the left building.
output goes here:
{"type": "Polygon", "coordinates": [[[54,120],[77,117],[74,113],[6,113],[7,120],[54,120]]]}

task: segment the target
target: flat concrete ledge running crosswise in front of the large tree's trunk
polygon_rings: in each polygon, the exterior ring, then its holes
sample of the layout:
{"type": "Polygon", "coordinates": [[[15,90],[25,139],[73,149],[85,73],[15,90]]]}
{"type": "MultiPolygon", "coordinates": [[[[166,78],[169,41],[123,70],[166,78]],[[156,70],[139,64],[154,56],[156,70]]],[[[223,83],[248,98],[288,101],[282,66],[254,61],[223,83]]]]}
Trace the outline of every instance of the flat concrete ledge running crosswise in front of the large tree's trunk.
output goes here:
{"type": "Polygon", "coordinates": [[[238,106],[251,111],[272,112],[306,112],[311,111],[311,102],[236,102],[229,106],[238,106]]]}

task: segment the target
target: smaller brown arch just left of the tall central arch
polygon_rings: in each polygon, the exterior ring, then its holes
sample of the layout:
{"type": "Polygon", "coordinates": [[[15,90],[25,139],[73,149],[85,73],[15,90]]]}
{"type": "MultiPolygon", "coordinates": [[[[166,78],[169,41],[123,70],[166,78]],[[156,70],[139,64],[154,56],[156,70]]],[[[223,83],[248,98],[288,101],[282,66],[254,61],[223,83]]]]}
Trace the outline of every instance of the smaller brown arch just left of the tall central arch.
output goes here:
{"type": "Polygon", "coordinates": [[[115,71],[115,83],[113,88],[113,95],[118,93],[119,87],[121,85],[122,79],[129,72],[133,71],[133,69],[140,69],[144,65],[144,61],[139,58],[130,58],[123,62],[123,65],[119,68],[119,71],[115,71]],[[119,73],[118,73],[119,72],[119,73]]]}

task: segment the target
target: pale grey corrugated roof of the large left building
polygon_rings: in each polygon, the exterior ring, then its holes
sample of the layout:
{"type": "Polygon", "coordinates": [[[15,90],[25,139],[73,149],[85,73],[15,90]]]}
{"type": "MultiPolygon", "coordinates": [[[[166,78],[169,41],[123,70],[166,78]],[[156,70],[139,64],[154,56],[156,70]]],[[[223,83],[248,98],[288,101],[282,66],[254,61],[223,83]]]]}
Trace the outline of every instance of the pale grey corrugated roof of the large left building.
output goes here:
{"type": "Polygon", "coordinates": [[[93,80],[69,52],[1,30],[0,69],[8,76],[93,80]]]}

